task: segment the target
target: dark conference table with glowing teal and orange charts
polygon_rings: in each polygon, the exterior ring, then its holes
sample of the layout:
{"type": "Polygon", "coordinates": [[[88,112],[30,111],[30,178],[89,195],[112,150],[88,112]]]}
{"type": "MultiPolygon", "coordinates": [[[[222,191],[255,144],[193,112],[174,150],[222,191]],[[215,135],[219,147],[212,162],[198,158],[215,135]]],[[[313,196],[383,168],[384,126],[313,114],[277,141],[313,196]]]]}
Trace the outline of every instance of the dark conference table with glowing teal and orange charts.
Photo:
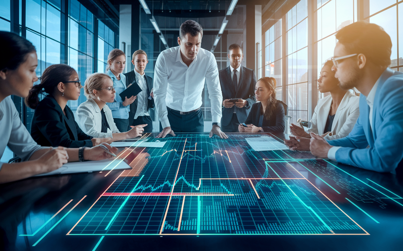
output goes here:
{"type": "Polygon", "coordinates": [[[282,133],[156,135],[119,148],[126,169],[0,185],[0,250],[403,249],[395,174],[291,151],[282,133]]]}

